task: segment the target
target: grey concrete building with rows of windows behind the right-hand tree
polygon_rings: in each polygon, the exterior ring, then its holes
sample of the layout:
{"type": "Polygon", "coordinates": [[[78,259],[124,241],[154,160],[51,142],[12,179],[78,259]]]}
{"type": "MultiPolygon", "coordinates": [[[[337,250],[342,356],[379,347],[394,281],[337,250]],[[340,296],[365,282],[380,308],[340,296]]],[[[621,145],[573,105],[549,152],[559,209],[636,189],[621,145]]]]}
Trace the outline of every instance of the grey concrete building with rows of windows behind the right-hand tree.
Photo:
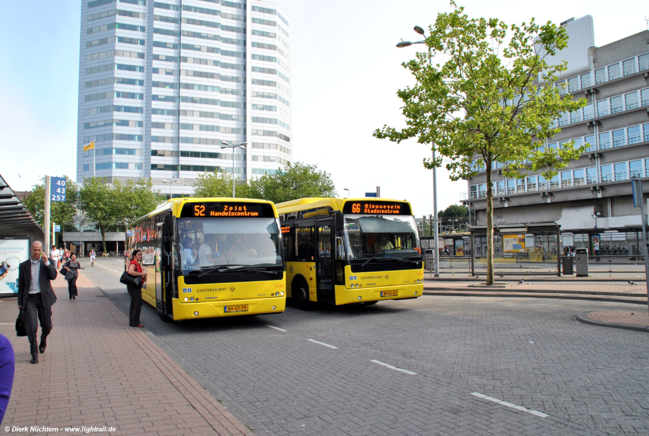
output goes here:
{"type": "MultiPolygon", "coordinates": [[[[640,209],[633,207],[631,177],[641,177],[649,192],[649,31],[595,47],[591,16],[562,25],[569,47],[551,62],[569,60],[569,70],[559,77],[567,84],[562,92],[585,97],[588,105],[563,114],[557,120],[561,132],[545,146],[575,140],[589,147],[552,180],[532,172],[523,180],[508,179],[499,171],[502,163],[494,164],[493,222],[501,233],[512,226],[529,233],[541,225],[556,235],[555,226],[563,237],[559,248],[590,248],[597,235],[602,250],[617,246],[620,253],[634,254],[642,221],[640,209]]],[[[461,198],[478,233],[487,224],[485,180],[485,172],[471,177],[461,198]]],[[[548,240],[545,253],[556,252],[556,239],[542,239],[543,244],[548,240]]],[[[481,248],[478,243],[476,254],[481,248]]]]}

